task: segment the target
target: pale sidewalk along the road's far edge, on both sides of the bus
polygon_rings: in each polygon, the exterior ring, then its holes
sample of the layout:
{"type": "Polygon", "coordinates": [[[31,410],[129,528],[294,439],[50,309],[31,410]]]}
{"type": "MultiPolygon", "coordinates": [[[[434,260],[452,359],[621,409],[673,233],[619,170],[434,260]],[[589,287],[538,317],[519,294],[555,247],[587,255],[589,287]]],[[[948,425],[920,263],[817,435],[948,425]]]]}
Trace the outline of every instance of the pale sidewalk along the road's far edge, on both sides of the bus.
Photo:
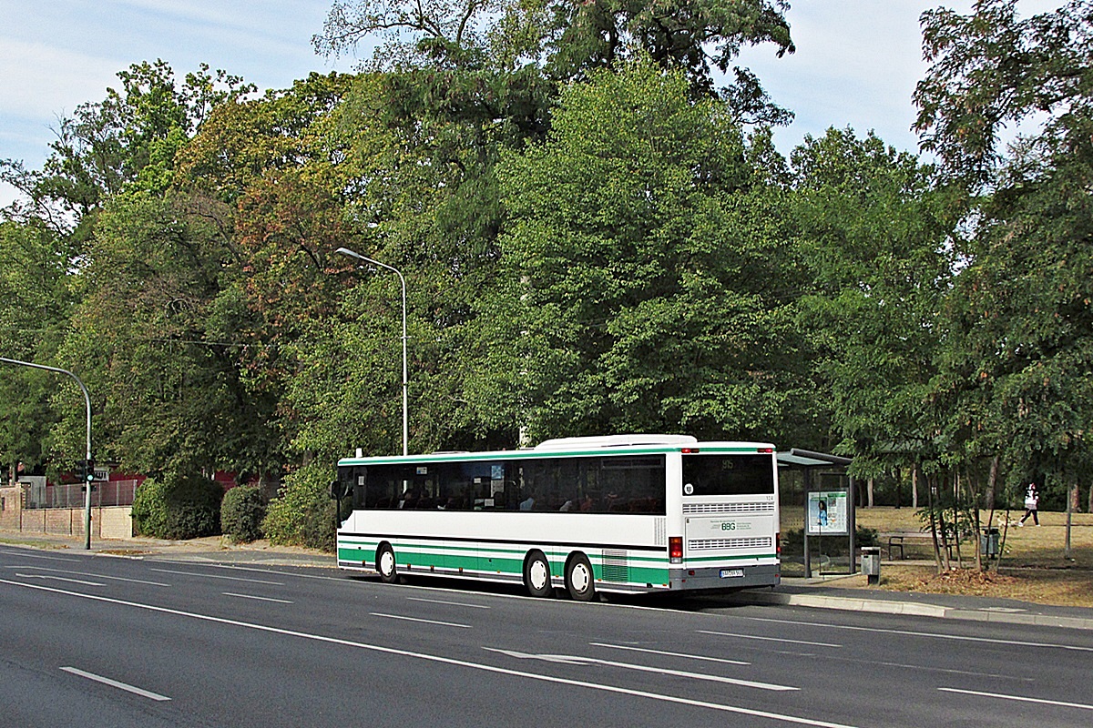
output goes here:
{"type": "MultiPolygon", "coordinates": [[[[84,541],[71,536],[0,532],[0,546],[84,552],[84,541]]],[[[313,549],[270,546],[268,541],[232,544],[220,536],[187,541],[163,541],[136,536],[128,539],[93,540],[91,553],[102,557],[189,561],[234,565],[309,566],[333,569],[334,558],[313,549]]],[[[731,595],[697,597],[702,600],[740,605],[787,605],[819,609],[964,619],[1009,624],[1036,624],[1093,630],[1093,609],[1053,607],[1013,599],[967,597],[949,594],[886,592],[880,588],[841,586],[847,576],[819,578],[783,577],[776,589],[750,589],[731,595]]]]}

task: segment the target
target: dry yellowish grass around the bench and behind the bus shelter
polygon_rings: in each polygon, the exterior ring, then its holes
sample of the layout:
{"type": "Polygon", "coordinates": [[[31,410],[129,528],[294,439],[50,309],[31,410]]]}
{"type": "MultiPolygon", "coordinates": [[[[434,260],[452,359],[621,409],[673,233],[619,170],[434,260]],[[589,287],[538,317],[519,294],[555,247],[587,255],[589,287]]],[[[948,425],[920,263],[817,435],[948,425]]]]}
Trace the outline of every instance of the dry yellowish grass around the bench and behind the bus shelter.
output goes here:
{"type": "MultiPolygon", "coordinates": [[[[1016,522],[1022,513],[1011,512],[1008,527],[1006,513],[995,513],[994,526],[1004,536],[997,573],[975,570],[977,545],[967,542],[962,545],[962,564],[954,560],[953,571],[939,574],[928,542],[907,545],[907,561],[888,559],[885,534],[917,532],[922,528],[914,509],[858,509],[858,527],[871,528],[880,534],[880,545],[884,549],[881,583],[879,587],[869,586],[866,577],[858,575],[839,582],[839,586],[990,596],[1046,605],[1093,607],[1093,514],[1072,514],[1070,558],[1067,559],[1066,514],[1041,512],[1041,527],[1033,526],[1030,520],[1023,528],[1019,528],[1016,522]]],[[[987,515],[986,512],[980,515],[984,525],[987,515]]],[[[783,509],[784,533],[800,528],[802,523],[803,514],[799,506],[783,509]]]]}

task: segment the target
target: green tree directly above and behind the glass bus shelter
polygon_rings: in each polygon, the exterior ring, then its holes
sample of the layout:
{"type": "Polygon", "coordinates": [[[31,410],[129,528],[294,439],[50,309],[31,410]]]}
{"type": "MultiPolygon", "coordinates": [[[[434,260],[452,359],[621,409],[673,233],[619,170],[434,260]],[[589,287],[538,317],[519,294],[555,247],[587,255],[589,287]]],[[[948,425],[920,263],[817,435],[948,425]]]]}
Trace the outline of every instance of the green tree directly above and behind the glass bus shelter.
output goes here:
{"type": "MultiPolygon", "coordinates": [[[[931,168],[872,133],[830,129],[806,138],[791,162],[799,253],[813,281],[801,324],[821,353],[842,438],[836,452],[854,456],[859,477],[896,468],[916,481],[925,476],[931,533],[943,542],[941,505],[951,503],[937,497],[943,443],[929,402],[945,334],[937,312],[962,208],[935,186],[931,168]]],[[[942,551],[935,553],[940,568],[942,551]]]]}

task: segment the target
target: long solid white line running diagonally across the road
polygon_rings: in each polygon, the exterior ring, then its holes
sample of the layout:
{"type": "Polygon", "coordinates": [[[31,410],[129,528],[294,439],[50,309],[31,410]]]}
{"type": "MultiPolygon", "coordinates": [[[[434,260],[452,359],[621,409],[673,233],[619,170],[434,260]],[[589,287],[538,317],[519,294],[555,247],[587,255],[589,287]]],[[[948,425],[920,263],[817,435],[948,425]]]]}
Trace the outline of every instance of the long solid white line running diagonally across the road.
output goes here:
{"type": "Polygon", "coordinates": [[[550,675],[524,672],[522,670],[513,670],[509,668],[497,667],[494,665],[486,665],[484,663],[471,663],[468,660],[455,659],[453,657],[442,657],[440,655],[430,655],[426,653],[415,653],[407,649],[398,649],[396,647],[368,645],[364,644],[363,642],[353,642],[351,640],[341,640],[339,637],[328,637],[321,634],[308,634],[306,632],[296,632],[293,630],[284,630],[277,626],[269,626],[268,624],[256,624],[254,622],[243,622],[235,619],[226,619],[224,617],[199,614],[197,612],[181,611],[179,609],[168,609],[167,607],[156,607],[154,605],[140,604],[139,601],[126,601],[124,599],[113,599],[110,597],[103,597],[95,594],[81,594],[79,592],[67,592],[64,589],[56,589],[49,586],[39,586],[37,584],[26,584],[24,582],[11,582],[5,578],[0,578],[0,584],[19,586],[24,589],[37,589],[39,592],[49,592],[50,594],[63,594],[66,596],[74,597],[77,599],[90,599],[92,601],[102,601],[103,604],[120,605],[124,607],[144,609],[146,611],[158,612],[162,614],[186,617],[188,619],[196,619],[203,622],[212,622],[214,624],[226,624],[230,626],[239,626],[247,630],[256,630],[258,632],[269,632],[270,634],[281,634],[289,637],[298,637],[301,640],[313,640],[315,642],[322,642],[325,644],[340,645],[343,647],[354,647],[356,649],[364,649],[366,652],[374,652],[383,655],[410,657],[413,659],[425,660],[428,663],[437,663],[439,665],[451,665],[455,667],[465,667],[471,670],[482,670],[483,672],[493,672],[494,675],[507,675],[509,677],[515,677],[515,678],[538,680],[539,682],[552,682],[554,684],[560,684],[560,685],[586,688],[588,690],[603,692],[603,693],[614,693],[616,695],[630,695],[632,697],[646,697],[654,701],[661,701],[663,703],[674,703],[677,705],[689,705],[691,707],[708,708],[710,711],[720,711],[722,713],[734,713],[738,715],[768,718],[771,720],[781,720],[784,723],[792,723],[802,726],[815,726],[816,728],[855,728],[854,726],[849,726],[847,724],[842,724],[842,723],[827,723],[826,720],[814,720],[812,718],[802,718],[800,716],[795,716],[795,715],[771,713],[768,711],[755,711],[752,708],[741,707],[739,705],[729,705],[727,703],[709,703],[707,701],[696,701],[687,697],[679,697],[677,695],[666,695],[663,693],[650,693],[644,690],[632,690],[630,688],[603,685],[597,682],[587,682],[585,680],[571,680],[568,678],[556,678],[550,675]]]}

